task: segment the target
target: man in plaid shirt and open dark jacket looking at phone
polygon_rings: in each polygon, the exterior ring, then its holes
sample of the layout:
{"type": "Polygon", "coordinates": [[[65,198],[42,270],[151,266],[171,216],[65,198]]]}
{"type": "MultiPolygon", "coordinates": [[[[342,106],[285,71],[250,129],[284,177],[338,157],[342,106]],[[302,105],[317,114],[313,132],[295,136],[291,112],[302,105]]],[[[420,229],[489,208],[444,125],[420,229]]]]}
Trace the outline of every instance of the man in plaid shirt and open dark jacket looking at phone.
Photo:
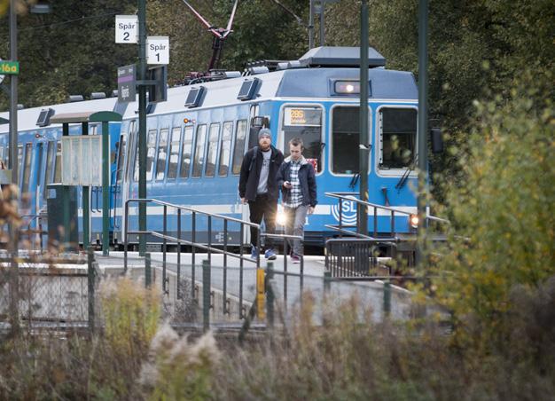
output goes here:
{"type": "MultiPolygon", "coordinates": [[[[302,155],[304,145],[301,138],[289,141],[291,154],[277,172],[277,185],[282,191],[282,201],[285,211],[285,234],[304,235],[304,223],[307,214],[314,213],[317,201],[316,172],[314,167],[302,155]]],[[[293,242],[291,260],[300,263],[302,256],[301,240],[293,242]]]]}

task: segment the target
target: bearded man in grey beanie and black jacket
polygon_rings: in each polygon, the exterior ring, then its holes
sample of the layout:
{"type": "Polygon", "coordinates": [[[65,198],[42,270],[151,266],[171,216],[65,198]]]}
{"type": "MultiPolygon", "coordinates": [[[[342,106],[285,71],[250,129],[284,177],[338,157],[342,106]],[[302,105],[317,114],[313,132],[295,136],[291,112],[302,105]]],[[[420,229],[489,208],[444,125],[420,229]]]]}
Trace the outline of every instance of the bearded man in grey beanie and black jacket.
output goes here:
{"type": "MultiPolygon", "coordinates": [[[[276,175],[283,161],[283,153],[271,145],[271,131],[262,128],[258,133],[258,146],[245,153],[241,164],[239,197],[243,203],[248,202],[251,223],[260,224],[262,217],[264,218],[268,234],[276,232],[277,198],[279,197],[276,175]]],[[[257,234],[256,228],[251,227],[252,258],[258,256],[254,245],[257,234]]],[[[276,259],[273,244],[274,241],[271,238],[266,239],[264,253],[266,259],[276,259]]]]}

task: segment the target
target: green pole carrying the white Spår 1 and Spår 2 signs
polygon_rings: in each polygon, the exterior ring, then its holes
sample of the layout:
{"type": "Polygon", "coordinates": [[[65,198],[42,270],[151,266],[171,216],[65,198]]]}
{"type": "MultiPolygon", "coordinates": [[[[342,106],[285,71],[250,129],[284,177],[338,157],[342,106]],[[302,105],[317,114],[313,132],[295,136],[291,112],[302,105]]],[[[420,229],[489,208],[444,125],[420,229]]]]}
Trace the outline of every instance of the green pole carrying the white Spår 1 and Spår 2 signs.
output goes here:
{"type": "MultiPolygon", "coordinates": [[[[140,81],[146,79],[146,0],[138,0],[139,69],[140,81]]],[[[146,86],[139,85],[139,183],[138,196],[146,199],[146,86]]],[[[146,231],[146,203],[139,203],[139,231],[146,231]]],[[[139,255],[146,251],[146,237],[139,239],[139,255]]]]}

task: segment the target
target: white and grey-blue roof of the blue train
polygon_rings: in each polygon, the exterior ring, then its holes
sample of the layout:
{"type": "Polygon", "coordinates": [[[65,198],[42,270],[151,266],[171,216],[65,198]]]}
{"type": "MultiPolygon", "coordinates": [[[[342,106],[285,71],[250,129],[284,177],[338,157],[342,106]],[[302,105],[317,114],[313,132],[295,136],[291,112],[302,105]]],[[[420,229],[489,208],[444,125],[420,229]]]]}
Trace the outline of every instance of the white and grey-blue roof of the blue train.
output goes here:
{"type": "MultiPolygon", "coordinates": [[[[341,97],[333,93],[333,83],[337,80],[358,81],[360,70],[356,58],[358,48],[317,48],[312,49],[298,60],[296,65],[263,74],[245,75],[213,82],[190,84],[168,88],[168,100],[153,106],[152,114],[168,114],[194,111],[244,103],[238,99],[239,91],[246,81],[259,80],[254,98],[247,102],[260,102],[270,99],[335,99],[343,100],[356,96],[341,97]],[[333,51],[332,51],[332,50],[333,51]],[[355,51],[356,50],[356,51],[355,51]],[[304,65],[304,66],[303,66],[304,65]],[[337,67],[341,66],[341,67],[337,67]],[[204,87],[202,103],[198,108],[185,105],[190,92],[204,87]]],[[[410,72],[387,70],[383,67],[385,59],[377,51],[369,49],[369,63],[372,66],[368,75],[370,80],[370,99],[411,100],[418,99],[417,83],[410,72]]],[[[101,98],[59,105],[41,106],[18,111],[18,129],[37,130],[37,119],[44,109],[52,108],[55,114],[114,111],[124,119],[137,117],[138,97],[135,102],[122,104],[117,98],[101,98]]],[[[0,113],[0,119],[9,119],[9,113],[0,113]]],[[[0,120],[1,121],[1,120],[0,120]]],[[[52,124],[51,127],[59,126],[52,124]]],[[[0,124],[0,133],[8,132],[9,124],[0,124]]]]}

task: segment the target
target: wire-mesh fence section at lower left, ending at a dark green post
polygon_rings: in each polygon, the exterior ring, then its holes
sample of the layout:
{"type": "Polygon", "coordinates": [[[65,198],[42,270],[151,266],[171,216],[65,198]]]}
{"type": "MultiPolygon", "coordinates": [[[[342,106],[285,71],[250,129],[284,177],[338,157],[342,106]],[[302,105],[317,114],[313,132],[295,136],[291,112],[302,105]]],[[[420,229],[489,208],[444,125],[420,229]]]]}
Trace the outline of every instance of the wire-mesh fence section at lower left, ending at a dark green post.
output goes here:
{"type": "Polygon", "coordinates": [[[38,253],[0,256],[0,328],[94,330],[98,274],[86,258],[38,253]]]}

